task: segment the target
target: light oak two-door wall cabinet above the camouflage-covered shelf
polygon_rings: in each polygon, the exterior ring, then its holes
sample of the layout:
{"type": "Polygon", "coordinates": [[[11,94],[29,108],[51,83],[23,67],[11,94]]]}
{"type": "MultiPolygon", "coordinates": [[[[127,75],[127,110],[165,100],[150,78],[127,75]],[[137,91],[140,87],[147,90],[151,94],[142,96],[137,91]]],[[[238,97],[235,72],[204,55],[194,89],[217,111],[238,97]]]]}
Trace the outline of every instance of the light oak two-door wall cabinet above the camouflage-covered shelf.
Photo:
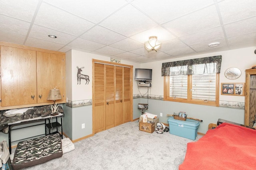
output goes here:
{"type": "Polygon", "coordinates": [[[50,89],[65,103],[65,53],[0,42],[0,110],[52,104],[50,89]]]}

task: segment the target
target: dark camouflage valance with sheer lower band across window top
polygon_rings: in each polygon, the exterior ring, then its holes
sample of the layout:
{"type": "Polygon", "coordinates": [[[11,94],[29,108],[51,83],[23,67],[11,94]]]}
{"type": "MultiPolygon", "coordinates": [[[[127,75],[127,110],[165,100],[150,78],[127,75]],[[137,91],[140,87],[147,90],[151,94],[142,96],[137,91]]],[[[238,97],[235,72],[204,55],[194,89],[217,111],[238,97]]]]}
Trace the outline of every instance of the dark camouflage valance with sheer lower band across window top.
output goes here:
{"type": "Polygon", "coordinates": [[[162,76],[220,73],[222,56],[162,63],[162,76]]]}

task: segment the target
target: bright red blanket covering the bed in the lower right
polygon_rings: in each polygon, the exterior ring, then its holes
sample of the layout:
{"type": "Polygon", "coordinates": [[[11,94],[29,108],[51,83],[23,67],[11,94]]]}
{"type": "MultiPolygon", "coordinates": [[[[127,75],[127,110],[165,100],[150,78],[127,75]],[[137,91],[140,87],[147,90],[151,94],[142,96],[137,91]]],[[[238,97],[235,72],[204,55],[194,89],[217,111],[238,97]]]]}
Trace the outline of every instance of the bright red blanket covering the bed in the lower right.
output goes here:
{"type": "Polygon", "coordinates": [[[256,130],[222,123],[187,145],[179,170],[255,170],[256,130]]]}

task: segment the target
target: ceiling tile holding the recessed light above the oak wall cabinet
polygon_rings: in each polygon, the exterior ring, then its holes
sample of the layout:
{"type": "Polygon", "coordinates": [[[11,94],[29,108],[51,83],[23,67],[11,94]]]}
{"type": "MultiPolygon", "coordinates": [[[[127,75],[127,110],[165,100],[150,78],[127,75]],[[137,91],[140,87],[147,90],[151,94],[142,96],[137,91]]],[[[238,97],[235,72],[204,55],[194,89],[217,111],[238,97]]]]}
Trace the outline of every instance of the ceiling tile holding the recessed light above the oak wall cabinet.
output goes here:
{"type": "Polygon", "coordinates": [[[73,35],[62,33],[60,31],[56,31],[35,24],[32,26],[28,36],[59,44],[68,44],[70,41],[73,41],[76,38],[73,35]],[[57,38],[50,38],[48,35],[55,35],[57,38]]]}

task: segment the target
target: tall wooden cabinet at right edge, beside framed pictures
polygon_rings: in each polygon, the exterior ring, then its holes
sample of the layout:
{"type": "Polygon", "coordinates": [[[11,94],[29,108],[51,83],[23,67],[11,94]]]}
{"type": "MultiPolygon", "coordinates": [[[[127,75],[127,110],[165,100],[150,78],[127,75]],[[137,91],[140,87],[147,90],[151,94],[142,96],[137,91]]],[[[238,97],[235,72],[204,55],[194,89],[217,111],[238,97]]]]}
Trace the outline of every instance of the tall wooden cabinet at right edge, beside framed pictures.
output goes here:
{"type": "Polygon", "coordinates": [[[256,68],[245,70],[245,114],[244,125],[253,126],[256,115],[256,68]]]}

